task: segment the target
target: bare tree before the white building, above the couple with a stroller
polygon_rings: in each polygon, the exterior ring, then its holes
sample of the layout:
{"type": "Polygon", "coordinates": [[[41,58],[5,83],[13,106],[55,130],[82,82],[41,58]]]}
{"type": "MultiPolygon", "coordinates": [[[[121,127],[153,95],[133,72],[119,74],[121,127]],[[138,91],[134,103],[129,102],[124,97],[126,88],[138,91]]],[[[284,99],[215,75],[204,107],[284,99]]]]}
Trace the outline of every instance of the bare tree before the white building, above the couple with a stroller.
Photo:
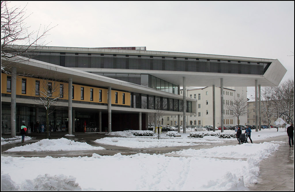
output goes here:
{"type": "Polygon", "coordinates": [[[225,108],[230,111],[230,117],[237,117],[238,126],[240,125],[240,116],[247,115],[247,100],[244,96],[235,97],[233,101],[230,102],[229,105],[225,105],[225,108]]]}

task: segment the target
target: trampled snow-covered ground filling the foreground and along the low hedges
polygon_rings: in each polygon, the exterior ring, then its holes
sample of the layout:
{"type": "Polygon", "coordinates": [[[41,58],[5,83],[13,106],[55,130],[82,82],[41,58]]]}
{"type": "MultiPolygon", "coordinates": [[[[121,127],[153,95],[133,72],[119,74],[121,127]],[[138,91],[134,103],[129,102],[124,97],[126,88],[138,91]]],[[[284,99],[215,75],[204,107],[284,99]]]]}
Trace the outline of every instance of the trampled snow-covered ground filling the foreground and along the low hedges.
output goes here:
{"type": "MultiPolygon", "coordinates": [[[[181,138],[160,141],[155,141],[156,139],[151,137],[112,137],[114,140],[108,142],[124,143],[129,140],[137,142],[130,144],[132,147],[141,144],[140,148],[146,148],[145,146],[150,147],[151,143],[157,143],[156,147],[159,147],[161,142],[165,142],[165,147],[166,142],[196,145],[199,143],[196,141],[208,143],[235,140],[212,136],[187,138],[187,135],[182,134],[181,138]]],[[[280,129],[278,133],[273,129],[253,131],[251,138],[257,142],[278,135],[286,135],[286,132],[284,129],[280,129]]],[[[159,155],[118,153],[113,156],[101,156],[94,153],[92,157],[72,158],[1,157],[1,190],[247,190],[246,186],[249,183],[257,182],[259,162],[277,150],[281,142],[187,149],[159,155]]],[[[68,142],[61,145],[70,146],[68,142]]],[[[36,147],[22,147],[26,146],[36,147]]],[[[49,145],[39,147],[43,151],[50,148],[49,145]]],[[[25,150],[24,148],[22,150],[25,150]]]]}

